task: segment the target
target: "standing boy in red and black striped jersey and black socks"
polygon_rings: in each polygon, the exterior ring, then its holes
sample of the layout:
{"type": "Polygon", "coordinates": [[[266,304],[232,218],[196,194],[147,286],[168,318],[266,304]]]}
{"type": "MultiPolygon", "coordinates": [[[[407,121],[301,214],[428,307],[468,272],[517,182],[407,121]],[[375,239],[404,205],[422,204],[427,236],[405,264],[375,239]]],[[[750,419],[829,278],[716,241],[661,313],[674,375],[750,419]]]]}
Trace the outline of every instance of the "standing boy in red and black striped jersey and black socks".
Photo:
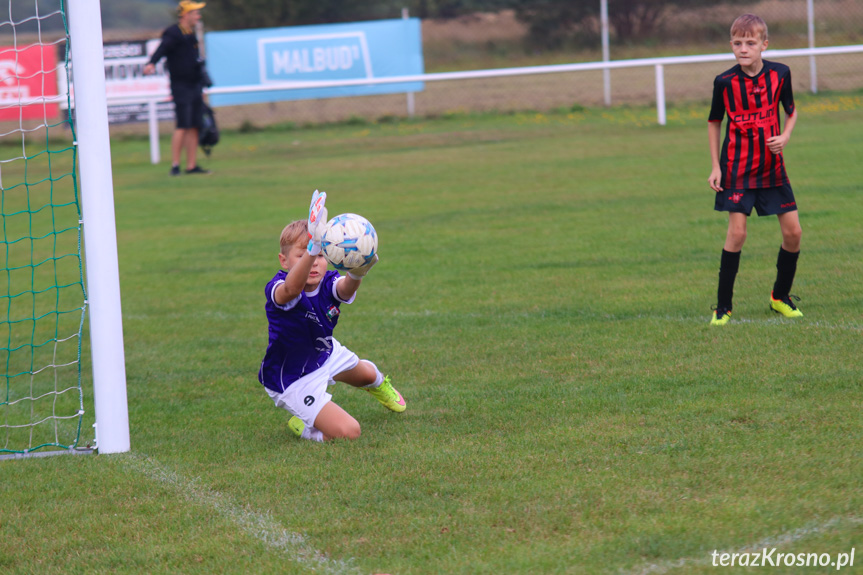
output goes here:
{"type": "Polygon", "coordinates": [[[731,25],[731,50],[737,65],[713,82],[708,118],[713,168],[708,183],[716,192],[714,209],[728,212],[728,233],[711,325],[725,325],[731,319],[734,280],[746,241],[746,219],[753,207],[759,216],[776,215],[782,231],[770,308],[785,317],[803,315],[791,300],[798,298],[789,294],[797,271],[802,231],[782,157],[797,123],[797,110],[791,71],[784,64],[763,60],[761,53],[766,49],[764,20],[753,14],[740,16],[731,25]],[[785,110],[784,130],[780,130],[780,104],[785,110]],[[722,120],[726,116],[725,141],[720,147],[722,120]]]}

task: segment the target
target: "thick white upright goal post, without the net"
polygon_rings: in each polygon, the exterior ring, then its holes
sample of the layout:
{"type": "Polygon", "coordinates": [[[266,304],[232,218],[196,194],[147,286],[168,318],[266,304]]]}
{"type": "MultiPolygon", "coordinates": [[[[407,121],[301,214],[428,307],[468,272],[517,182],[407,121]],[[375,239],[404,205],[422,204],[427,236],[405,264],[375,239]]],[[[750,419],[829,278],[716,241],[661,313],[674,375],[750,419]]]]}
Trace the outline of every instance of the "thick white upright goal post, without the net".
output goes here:
{"type": "Polygon", "coordinates": [[[68,0],[99,453],[129,451],[126,360],[99,0],[68,0]]]}

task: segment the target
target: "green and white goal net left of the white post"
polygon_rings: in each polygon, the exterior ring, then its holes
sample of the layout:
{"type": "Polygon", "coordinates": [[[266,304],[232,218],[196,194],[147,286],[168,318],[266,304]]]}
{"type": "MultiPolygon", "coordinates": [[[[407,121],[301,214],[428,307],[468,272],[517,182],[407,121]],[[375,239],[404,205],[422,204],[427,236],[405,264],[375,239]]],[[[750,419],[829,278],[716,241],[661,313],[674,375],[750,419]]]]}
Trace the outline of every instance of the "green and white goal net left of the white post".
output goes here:
{"type": "Polygon", "coordinates": [[[39,5],[0,11],[0,454],[75,449],[84,417],[77,152],[56,96],[69,34],[62,3],[39,5]]]}

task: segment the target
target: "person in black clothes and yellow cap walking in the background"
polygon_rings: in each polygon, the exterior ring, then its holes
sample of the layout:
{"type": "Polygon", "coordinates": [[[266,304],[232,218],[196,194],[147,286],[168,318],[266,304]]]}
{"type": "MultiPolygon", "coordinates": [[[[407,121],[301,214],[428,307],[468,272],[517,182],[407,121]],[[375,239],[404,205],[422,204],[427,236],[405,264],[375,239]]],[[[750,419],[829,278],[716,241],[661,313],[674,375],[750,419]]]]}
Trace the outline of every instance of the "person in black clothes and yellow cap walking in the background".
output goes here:
{"type": "Polygon", "coordinates": [[[203,61],[198,51],[195,25],[201,19],[204,2],[183,0],[177,6],[178,22],[162,33],[162,43],[144,66],[144,74],[156,71],[156,63],[163,57],[168,63],[171,77],[171,95],[177,129],[171,137],[171,175],[180,175],[180,154],[186,150],[186,173],[208,174],[198,166],[198,132],[203,114],[203,61]]]}

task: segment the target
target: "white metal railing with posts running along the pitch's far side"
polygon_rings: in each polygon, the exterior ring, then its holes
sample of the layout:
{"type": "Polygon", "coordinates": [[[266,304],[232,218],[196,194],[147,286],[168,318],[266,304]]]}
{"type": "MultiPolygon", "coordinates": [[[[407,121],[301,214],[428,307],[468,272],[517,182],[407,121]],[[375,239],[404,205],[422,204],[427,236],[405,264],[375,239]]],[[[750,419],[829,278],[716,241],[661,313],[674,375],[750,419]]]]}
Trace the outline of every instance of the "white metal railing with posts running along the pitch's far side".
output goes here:
{"type": "MultiPolygon", "coordinates": [[[[768,59],[792,58],[809,56],[814,62],[817,56],[830,56],[838,54],[863,53],[863,45],[831,46],[825,48],[803,48],[796,50],[768,50],[764,57],[768,59]]],[[[368,86],[377,84],[397,84],[402,82],[440,82],[454,80],[472,80],[479,78],[501,78],[506,76],[530,76],[537,74],[555,74],[561,72],[586,72],[594,70],[615,70],[620,68],[639,68],[653,66],[656,76],[656,119],[664,126],[666,123],[665,102],[665,67],[679,64],[699,64],[706,62],[734,61],[731,53],[705,54],[698,56],[676,56],[667,58],[642,58],[637,60],[615,60],[609,62],[587,62],[582,64],[559,64],[554,66],[527,66],[522,68],[499,68],[494,70],[473,70],[465,72],[442,72],[437,74],[420,74],[415,76],[393,76],[389,78],[374,78],[360,80],[342,81],[320,81],[320,82],[282,82],[267,85],[213,87],[206,91],[208,94],[239,94],[252,92],[267,92],[274,90],[298,90],[303,88],[335,88],[342,86],[368,86]]],[[[814,70],[814,66],[812,66],[814,70]]],[[[811,90],[817,92],[817,83],[814,75],[811,90]]],[[[170,99],[170,94],[125,94],[122,97],[114,97],[108,100],[108,104],[149,104],[149,129],[150,129],[150,159],[152,163],[159,163],[159,125],[156,117],[156,104],[170,99]]],[[[413,98],[408,94],[407,98],[408,116],[413,116],[413,98]]]]}

